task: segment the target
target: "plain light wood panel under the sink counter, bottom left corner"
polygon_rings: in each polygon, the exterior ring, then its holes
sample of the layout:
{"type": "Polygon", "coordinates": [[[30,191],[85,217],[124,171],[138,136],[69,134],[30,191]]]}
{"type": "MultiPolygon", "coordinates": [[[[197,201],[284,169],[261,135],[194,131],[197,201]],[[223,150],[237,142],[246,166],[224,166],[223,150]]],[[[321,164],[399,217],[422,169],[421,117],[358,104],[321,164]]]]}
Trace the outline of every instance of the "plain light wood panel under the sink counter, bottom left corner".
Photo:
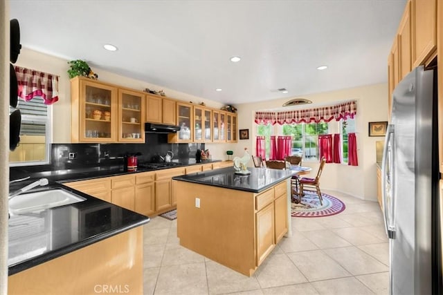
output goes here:
{"type": "Polygon", "coordinates": [[[143,294],[143,227],[8,277],[8,294],[143,294]]]}

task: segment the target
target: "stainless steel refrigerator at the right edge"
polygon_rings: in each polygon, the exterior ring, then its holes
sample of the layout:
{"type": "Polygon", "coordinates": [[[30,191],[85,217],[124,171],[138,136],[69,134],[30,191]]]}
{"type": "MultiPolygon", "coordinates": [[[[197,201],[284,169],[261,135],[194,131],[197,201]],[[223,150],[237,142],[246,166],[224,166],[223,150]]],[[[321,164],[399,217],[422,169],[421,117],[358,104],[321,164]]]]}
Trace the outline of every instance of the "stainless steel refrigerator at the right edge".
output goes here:
{"type": "Polygon", "coordinates": [[[382,162],[390,294],[441,294],[437,70],[415,68],[392,93],[382,162]]]}

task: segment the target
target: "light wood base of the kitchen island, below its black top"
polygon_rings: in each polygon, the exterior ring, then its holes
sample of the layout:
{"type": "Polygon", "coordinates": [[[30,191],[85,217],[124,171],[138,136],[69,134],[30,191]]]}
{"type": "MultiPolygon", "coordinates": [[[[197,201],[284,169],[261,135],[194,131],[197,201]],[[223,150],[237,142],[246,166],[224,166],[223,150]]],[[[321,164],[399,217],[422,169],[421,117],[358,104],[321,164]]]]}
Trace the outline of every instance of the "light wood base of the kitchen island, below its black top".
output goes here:
{"type": "Polygon", "coordinates": [[[177,195],[180,245],[246,276],[275,247],[275,218],[278,237],[287,231],[287,222],[280,221],[288,218],[287,206],[279,202],[287,202],[287,195],[274,200],[273,187],[252,193],[172,180],[172,190],[177,195]]]}

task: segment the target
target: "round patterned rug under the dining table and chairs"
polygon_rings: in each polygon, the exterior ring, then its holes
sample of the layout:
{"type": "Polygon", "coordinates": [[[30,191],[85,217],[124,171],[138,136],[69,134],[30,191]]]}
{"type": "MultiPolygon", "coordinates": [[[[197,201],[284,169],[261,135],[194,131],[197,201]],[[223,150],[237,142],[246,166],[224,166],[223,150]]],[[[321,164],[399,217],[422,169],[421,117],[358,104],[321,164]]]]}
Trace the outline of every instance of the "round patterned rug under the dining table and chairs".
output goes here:
{"type": "MultiPolygon", "coordinates": [[[[302,202],[296,204],[291,203],[292,217],[323,217],[338,214],[345,210],[346,206],[341,200],[326,193],[322,193],[323,205],[320,205],[317,193],[315,191],[305,191],[302,202]]],[[[298,196],[294,196],[298,200],[298,196]]]]}

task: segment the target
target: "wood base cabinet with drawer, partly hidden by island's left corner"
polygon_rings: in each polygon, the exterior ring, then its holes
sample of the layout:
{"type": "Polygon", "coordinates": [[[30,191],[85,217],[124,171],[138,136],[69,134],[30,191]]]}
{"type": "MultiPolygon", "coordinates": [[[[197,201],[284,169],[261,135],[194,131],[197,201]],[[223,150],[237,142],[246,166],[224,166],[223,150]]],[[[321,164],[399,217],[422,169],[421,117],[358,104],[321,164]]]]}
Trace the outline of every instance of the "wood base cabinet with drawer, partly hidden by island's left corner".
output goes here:
{"type": "Polygon", "coordinates": [[[156,211],[172,209],[177,199],[172,196],[172,178],[185,174],[185,167],[170,168],[156,171],[155,175],[155,203],[156,211]]]}

